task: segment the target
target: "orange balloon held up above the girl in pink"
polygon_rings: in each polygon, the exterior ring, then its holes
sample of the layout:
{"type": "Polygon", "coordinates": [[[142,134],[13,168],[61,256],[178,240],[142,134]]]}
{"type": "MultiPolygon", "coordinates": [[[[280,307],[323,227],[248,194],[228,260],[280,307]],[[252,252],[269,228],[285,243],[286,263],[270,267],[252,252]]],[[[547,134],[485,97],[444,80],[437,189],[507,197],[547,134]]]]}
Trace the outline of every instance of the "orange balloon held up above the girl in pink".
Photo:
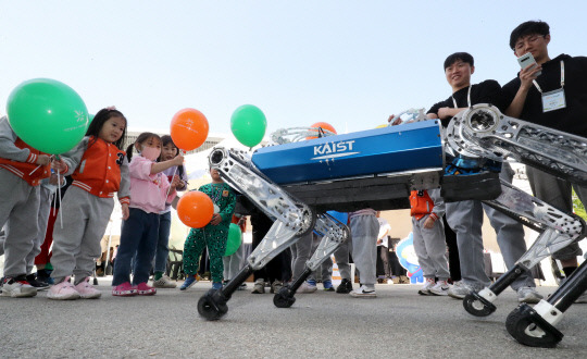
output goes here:
{"type": "Polygon", "coordinates": [[[191,151],[208,137],[208,120],[196,109],[179,110],[171,123],[171,136],[177,148],[191,151]]]}

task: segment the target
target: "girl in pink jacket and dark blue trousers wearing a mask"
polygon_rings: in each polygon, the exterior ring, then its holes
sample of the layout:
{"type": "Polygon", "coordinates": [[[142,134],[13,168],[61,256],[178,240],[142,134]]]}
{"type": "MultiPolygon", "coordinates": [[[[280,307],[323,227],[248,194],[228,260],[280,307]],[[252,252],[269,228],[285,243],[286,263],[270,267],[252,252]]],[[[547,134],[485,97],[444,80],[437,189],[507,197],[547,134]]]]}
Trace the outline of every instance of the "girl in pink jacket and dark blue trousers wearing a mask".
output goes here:
{"type": "Polygon", "coordinates": [[[165,203],[175,198],[175,187],[179,177],[170,184],[162,172],[184,163],[184,157],[155,162],[161,153],[161,138],[152,133],[142,133],[135,144],[128,146],[130,159],[135,148],[140,156],[135,156],[129,168],[130,173],[130,211],[123,223],[121,245],[114,264],[112,280],[113,296],[153,295],[157,289],[147,285],[151,262],[159,237],[159,213],[165,203]],[[136,256],[135,256],[136,255],[136,256]],[[133,283],[130,285],[130,261],[135,257],[133,283]]]}

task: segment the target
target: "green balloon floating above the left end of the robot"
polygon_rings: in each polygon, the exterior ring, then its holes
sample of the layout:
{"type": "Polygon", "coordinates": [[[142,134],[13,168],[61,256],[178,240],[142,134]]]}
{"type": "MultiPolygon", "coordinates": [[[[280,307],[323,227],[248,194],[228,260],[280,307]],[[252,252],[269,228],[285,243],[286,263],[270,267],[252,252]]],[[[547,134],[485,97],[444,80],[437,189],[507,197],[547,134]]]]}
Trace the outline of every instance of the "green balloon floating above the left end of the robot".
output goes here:
{"type": "Polygon", "coordinates": [[[265,136],[267,120],[258,107],[243,104],[233,112],[230,129],[239,143],[247,147],[254,147],[265,136]]]}

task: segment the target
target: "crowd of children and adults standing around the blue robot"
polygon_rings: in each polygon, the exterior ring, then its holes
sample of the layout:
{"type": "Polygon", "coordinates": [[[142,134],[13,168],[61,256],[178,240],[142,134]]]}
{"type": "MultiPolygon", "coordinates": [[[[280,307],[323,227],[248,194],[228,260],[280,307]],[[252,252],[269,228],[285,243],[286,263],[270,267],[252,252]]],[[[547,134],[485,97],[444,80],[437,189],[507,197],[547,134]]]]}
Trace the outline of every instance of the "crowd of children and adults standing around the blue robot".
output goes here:
{"type": "MultiPolygon", "coordinates": [[[[510,47],[516,57],[532,53],[536,64],[524,67],[503,87],[492,79],[472,84],[474,58],[466,52],[450,54],[444,71],[451,95],[427,111],[427,119],[438,119],[444,127],[452,116],[476,103],[490,103],[507,115],[587,137],[587,124],[578,120],[587,107],[587,58],[561,54],[551,59],[549,25],[540,21],[525,22],[511,34],[510,47]]],[[[389,122],[400,125],[391,115],[389,122]]],[[[177,191],[187,188],[184,157],[171,136],[142,133],[126,150],[122,146],[127,120],[114,109],[100,110],[90,123],[86,137],[59,158],[42,153],[21,140],[7,117],[0,119],[0,222],[5,230],[0,249],[4,253],[2,296],[29,297],[48,288],[50,299],[98,298],[91,283],[96,259],[101,256],[100,240],[114,207],[113,197],[122,206],[123,227],[113,268],[113,296],[151,296],[157,288],[173,288],[166,275],[167,242],[172,203],[177,191]],[[134,152],[136,152],[134,154],[134,152]],[[68,178],[65,181],[64,176],[68,178]],[[55,193],[64,193],[58,210],[52,209],[55,193]],[[38,221],[30,219],[38,218],[38,221]],[[49,248],[52,243],[52,253],[49,248]],[[34,268],[37,273],[33,273],[34,268]],[[153,275],[152,285],[150,275],[153,275]]],[[[447,163],[454,165],[449,159],[447,163]]],[[[572,212],[572,188],[584,201],[585,189],[536,169],[527,168],[534,195],[565,212],[572,212]]],[[[235,213],[237,196],[211,169],[212,182],[198,188],[214,203],[211,222],[191,228],[184,246],[186,280],[180,290],[198,281],[200,258],[204,248],[210,258],[213,289],[233,280],[242,263],[241,251],[224,256],[229,224],[245,226],[242,213],[235,213]]],[[[500,178],[511,183],[513,172],[504,162],[500,178]]],[[[59,202],[59,201],[57,201],[59,202]]],[[[445,203],[439,189],[414,190],[410,195],[414,249],[425,283],[421,295],[450,296],[462,299],[472,290],[490,285],[483,258],[482,224],[484,212],[496,231],[497,240],[508,268],[526,251],[522,224],[478,200],[445,203]],[[447,251],[448,248],[448,251],[447,251]]],[[[270,231],[273,221],[252,209],[252,246],[257,247],[270,231]]],[[[377,258],[390,280],[387,262],[391,244],[388,224],[378,212],[364,208],[351,213],[336,213],[350,228],[350,239],[341,244],[334,257],[341,283],[332,281],[333,262],[327,259],[299,288],[299,293],[324,290],[349,294],[355,298],[375,298],[377,258]],[[384,233],[384,235],[382,235],[384,233]],[[351,260],[355,264],[359,285],[353,287],[351,260]]],[[[265,284],[275,293],[299,277],[315,250],[320,237],[308,234],[291,249],[282,251],[268,264],[253,273],[253,294],[265,293],[265,284]]],[[[572,244],[553,255],[569,276],[577,268],[582,255],[572,244]]],[[[532,273],[523,273],[511,287],[522,302],[538,302],[532,273]]],[[[243,288],[243,287],[241,287],[243,288]]],[[[587,301],[579,298],[579,301],[587,301]]]]}

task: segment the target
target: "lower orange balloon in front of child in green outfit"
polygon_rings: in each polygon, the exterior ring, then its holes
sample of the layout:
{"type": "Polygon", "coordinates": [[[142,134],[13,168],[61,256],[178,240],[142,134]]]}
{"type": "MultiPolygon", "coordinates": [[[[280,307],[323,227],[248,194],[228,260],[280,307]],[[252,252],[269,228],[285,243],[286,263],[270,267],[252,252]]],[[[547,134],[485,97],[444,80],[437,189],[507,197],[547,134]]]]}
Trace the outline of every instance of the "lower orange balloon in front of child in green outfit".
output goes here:
{"type": "Polygon", "coordinates": [[[191,190],[177,202],[177,216],[185,225],[201,228],[212,220],[214,203],[207,194],[191,190]]]}

